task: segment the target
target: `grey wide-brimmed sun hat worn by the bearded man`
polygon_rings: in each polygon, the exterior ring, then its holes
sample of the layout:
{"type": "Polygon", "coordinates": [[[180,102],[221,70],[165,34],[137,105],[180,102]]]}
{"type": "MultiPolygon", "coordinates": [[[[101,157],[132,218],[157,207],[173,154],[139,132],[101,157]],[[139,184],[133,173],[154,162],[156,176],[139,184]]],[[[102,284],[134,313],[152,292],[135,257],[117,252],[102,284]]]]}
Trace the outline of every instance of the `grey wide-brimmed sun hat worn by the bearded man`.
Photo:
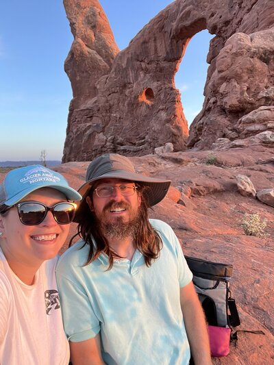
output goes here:
{"type": "Polygon", "coordinates": [[[136,173],[132,162],[125,156],[106,153],[90,163],[86,171],[86,183],[79,188],[78,192],[82,197],[86,197],[95,181],[111,178],[136,181],[139,185],[146,186],[144,194],[149,207],[164,199],[171,185],[170,180],[155,179],[136,173]]]}

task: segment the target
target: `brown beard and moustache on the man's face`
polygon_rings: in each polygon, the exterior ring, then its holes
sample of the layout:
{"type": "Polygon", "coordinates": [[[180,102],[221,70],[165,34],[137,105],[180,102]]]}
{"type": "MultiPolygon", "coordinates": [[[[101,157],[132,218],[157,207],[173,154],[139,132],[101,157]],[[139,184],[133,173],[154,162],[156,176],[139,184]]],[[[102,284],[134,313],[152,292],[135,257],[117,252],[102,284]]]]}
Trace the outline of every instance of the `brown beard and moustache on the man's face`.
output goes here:
{"type": "Polygon", "coordinates": [[[129,237],[134,240],[140,227],[140,213],[134,212],[134,214],[129,216],[129,221],[127,222],[120,216],[116,218],[114,223],[106,221],[105,212],[117,207],[125,208],[129,211],[131,210],[131,206],[126,202],[108,203],[108,205],[105,205],[101,217],[96,216],[99,231],[108,241],[113,239],[123,240],[129,237]]]}

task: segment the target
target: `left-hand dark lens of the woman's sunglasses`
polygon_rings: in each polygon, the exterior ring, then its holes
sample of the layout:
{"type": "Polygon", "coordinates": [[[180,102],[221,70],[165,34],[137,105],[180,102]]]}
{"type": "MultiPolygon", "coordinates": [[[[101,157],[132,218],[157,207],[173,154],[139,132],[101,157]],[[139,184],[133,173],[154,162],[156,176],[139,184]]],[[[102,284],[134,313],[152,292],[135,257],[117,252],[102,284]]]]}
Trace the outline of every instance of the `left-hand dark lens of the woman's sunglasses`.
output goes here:
{"type": "Polygon", "coordinates": [[[23,203],[19,216],[24,225],[39,225],[46,215],[46,208],[39,203],[23,203]]]}

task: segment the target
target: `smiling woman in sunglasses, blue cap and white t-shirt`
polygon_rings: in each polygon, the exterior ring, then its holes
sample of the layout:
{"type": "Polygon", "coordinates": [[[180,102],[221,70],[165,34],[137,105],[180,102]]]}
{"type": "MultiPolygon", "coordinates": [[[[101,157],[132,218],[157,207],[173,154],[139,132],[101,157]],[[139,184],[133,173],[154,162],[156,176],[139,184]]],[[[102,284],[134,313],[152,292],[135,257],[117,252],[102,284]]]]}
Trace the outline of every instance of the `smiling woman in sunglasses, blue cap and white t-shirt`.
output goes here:
{"type": "Polygon", "coordinates": [[[55,283],[58,251],[81,195],[40,165],[0,185],[0,364],[67,365],[55,283]]]}

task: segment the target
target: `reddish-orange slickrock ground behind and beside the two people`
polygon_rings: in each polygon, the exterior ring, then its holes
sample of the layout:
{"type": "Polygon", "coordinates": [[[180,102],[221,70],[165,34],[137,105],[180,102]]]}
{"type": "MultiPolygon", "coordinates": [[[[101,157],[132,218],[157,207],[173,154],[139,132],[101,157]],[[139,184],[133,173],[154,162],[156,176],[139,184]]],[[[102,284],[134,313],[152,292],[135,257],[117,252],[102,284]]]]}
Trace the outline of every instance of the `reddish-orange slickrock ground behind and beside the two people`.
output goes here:
{"type": "MultiPolygon", "coordinates": [[[[274,208],[243,197],[236,185],[237,175],[247,175],[257,191],[274,188],[273,150],[257,146],[130,159],[138,172],[172,180],[169,194],[150,216],[173,227],[186,255],[233,264],[232,296],[242,322],[237,329],[265,333],[239,333],[237,347],[231,344],[229,356],[215,358],[214,364],[273,364],[274,208]],[[215,165],[206,163],[212,160],[215,165]],[[241,227],[245,213],[267,219],[264,238],[245,235],[241,227]]],[[[69,162],[55,169],[78,188],[88,164],[69,162]]]]}

